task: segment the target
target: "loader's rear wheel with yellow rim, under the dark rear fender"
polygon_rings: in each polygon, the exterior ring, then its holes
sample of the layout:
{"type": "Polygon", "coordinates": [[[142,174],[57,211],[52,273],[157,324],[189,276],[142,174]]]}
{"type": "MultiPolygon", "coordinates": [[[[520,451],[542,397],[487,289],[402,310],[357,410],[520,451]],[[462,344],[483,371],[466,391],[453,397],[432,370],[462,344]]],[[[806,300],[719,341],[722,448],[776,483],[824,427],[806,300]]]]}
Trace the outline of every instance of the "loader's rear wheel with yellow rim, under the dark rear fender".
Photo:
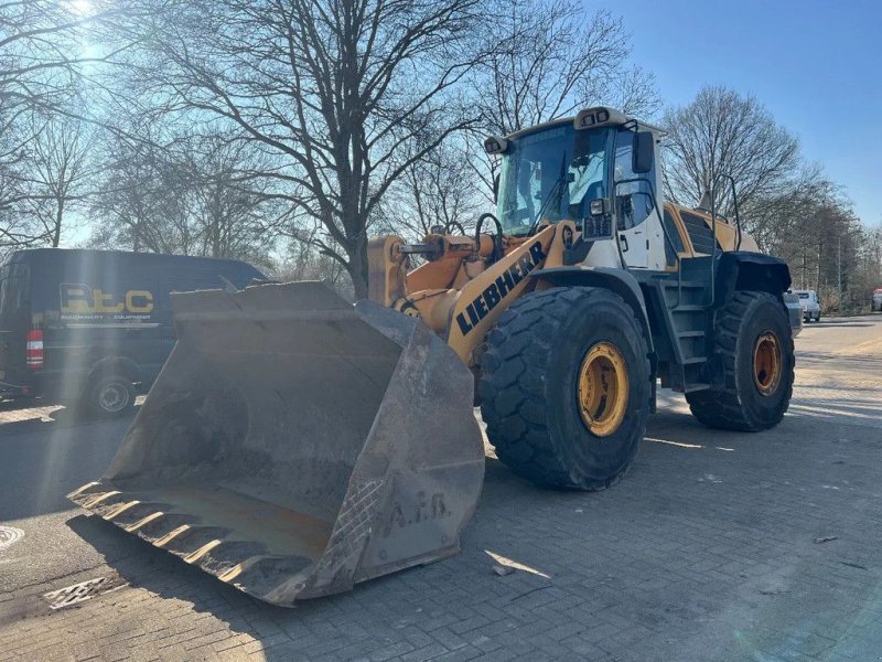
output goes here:
{"type": "Polygon", "coordinates": [[[781,302],[766,292],[735,293],[717,312],[714,344],[711,365],[722,375],[711,381],[723,386],[688,393],[692,415],[725,430],[759,431],[781,423],[790,404],[795,365],[793,332],[781,302]]]}

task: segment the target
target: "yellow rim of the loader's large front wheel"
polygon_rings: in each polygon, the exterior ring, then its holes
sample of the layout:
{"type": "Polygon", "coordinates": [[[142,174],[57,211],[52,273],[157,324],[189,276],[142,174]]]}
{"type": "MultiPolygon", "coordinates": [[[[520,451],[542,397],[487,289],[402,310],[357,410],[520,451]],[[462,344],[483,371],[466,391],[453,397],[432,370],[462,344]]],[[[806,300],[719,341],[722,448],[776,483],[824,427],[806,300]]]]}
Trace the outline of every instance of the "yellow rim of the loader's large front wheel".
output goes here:
{"type": "Polygon", "coordinates": [[[579,371],[579,409],[582,423],[596,437],[612,435],[627,410],[627,366],[622,352],[599,342],[585,353],[579,371]]]}

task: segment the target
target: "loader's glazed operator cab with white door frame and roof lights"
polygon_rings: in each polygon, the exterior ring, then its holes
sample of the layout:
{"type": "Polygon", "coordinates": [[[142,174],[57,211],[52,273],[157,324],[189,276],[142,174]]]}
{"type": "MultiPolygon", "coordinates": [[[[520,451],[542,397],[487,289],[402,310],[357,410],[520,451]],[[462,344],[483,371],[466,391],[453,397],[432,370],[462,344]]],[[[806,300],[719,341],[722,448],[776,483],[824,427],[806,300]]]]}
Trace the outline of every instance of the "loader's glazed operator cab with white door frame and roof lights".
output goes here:
{"type": "Polygon", "coordinates": [[[600,244],[595,250],[607,254],[601,259],[606,266],[664,269],[656,168],[660,137],[660,129],[598,107],[488,138],[487,153],[502,157],[497,216],[503,231],[523,237],[569,220],[592,244],[588,249],[600,244]]]}

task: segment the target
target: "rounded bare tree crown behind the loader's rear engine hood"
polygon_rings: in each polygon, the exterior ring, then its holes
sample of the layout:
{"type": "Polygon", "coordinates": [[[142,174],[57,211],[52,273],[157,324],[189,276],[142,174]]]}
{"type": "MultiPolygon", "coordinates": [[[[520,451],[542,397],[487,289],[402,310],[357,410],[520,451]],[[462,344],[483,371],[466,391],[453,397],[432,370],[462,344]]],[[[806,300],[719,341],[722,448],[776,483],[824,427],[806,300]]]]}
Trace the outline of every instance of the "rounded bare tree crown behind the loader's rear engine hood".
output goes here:
{"type": "MultiPolygon", "coordinates": [[[[735,179],[745,210],[792,189],[800,174],[799,142],[752,96],[704,87],[687,105],[665,113],[666,188],[670,199],[697,203],[719,174],[735,179]]],[[[718,194],[732,212],[728,189],[718,194]]]]}

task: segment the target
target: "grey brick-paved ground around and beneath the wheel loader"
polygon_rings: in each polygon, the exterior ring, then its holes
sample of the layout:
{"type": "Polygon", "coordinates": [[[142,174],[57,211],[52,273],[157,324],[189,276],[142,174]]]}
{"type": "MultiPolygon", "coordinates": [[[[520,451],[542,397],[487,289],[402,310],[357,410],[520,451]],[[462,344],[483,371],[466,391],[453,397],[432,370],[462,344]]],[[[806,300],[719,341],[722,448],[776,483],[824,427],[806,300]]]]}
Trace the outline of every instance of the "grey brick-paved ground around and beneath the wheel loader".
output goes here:
{"type": "Polygon", "coordinates": [[[882,659],[881,322],[804,332],[774,431],[709,431],[669,395],[604,493],[491,459],[462,555],[291,610],[67,510],[125,426],[0,413],[0,520],[25,534],[0,551],[0,660],[882,659]],[[19,453],[52,484],[17,479],[19,453]],[[28,489],[44,494],[14,501],[28,489]],[[491,554],[520,569],[495,575],[491,554]],[[41,597],[114,573],[129,586],[78,607],[41,597]]]}

